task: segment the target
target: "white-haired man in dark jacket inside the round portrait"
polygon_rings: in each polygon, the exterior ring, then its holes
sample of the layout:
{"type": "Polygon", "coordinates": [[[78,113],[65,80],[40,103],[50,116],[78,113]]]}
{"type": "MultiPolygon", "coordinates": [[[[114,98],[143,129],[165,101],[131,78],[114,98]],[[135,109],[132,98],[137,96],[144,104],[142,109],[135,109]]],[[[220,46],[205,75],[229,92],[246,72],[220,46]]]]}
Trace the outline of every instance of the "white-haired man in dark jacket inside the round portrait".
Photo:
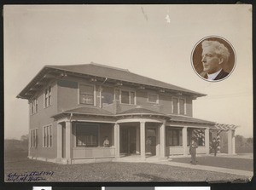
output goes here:
{"type": "Polygon", "coordinates": [[[202,46],[203,72],[201,77],[209,81],[216,81],[227,77],[230,73],[225,72],[223,65],[229,60],[230,52],[223,43],[218,41],[205,40],[202,46]]]}

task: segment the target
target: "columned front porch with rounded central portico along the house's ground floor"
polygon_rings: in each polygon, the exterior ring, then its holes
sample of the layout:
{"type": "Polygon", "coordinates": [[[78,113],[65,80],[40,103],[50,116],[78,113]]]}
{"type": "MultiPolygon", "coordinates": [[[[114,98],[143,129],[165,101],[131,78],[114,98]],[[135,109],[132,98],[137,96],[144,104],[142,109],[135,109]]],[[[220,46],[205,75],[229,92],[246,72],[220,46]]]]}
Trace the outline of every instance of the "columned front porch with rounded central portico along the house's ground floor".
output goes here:
{"type": "MultiPolygon", "coordinates": [[[[192,137],[198,141],[197,153],[209,154],[212,124],[200,123],[188,117],[183,118],[185,121],[180,116],[178,121],[172,119],[173,116],[171,118],[152,111],[115,117],[72,114],[69,119],[60,118],[57,121],[56,162],[145,162],[175,155],[186,157],[192,137]],[[106,138],[108,146],[104,145],[106,138]]],[[[231,135],[234,136],[234,133],[231,135]]]]}

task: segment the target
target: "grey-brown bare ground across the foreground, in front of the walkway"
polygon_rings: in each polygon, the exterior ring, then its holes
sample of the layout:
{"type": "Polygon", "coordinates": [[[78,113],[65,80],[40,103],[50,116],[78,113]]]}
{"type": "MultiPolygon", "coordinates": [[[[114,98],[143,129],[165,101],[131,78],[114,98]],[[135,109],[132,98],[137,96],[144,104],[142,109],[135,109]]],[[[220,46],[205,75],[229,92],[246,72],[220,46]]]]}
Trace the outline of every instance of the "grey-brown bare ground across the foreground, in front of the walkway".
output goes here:
{"type": "MultiPolygon", "coordinates": [[[[26,158],[26,152],[5,153],[5,181],[8,175],[53,171],[45,181],[236,181],[246,176],[206,170],[192,170],[152,163],[93,163],[62,165],[26,158]]],[[[201,158],[207,164],[207,160],[201,158]]],[[[180,159],[181,160],[181,159],[180,159]]],[[[212,163],[212,160],[209,160],[212,163]]]]}

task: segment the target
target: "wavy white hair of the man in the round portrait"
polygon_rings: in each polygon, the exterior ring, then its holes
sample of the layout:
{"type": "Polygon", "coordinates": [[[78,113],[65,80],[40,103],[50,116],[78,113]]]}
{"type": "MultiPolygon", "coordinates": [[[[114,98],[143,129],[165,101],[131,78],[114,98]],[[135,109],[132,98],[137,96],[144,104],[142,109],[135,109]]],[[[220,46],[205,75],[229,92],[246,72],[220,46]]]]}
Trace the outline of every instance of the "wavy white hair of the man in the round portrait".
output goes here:
{"type": "Polygon", "coordinates": [[[212,46],[215,54],[224,59],[224,63],[226,63],[229,60],[230,58],[229,49],[227,49],[223,43],[219,43],[218,41],[211,41],[211,40],[205,40],[201,43],[202,49],[208,46],[212,46]]]}

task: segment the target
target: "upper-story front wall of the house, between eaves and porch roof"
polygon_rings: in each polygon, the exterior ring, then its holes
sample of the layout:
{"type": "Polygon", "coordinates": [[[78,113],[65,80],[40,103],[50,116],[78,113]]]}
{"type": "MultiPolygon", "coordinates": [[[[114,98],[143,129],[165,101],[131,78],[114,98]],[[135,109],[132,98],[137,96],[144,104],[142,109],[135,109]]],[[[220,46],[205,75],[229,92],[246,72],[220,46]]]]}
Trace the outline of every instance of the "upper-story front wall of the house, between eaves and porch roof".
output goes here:
{"type": "MultiPolygon", "coordinates": [[[[95,85],[95,105],[79,104],[79,83],[92,85],[87,80],[79,78],[67,78],[65,80],[58,80],[58,112],[63,110],[73,109],[74,107],[101,107],[99,85],[95,85]]],[[[147,109],[162,112],[165,114],[172,114],[172,95],[165,95],[158,93],[154,90],[136,90],[131,87],[122,86],[118,88],[102,86],[103,90],[108,93],[114,93],[114,89],[130,90],[136,92],[136,102],[134,105],[119,103],[120,101],[113,102],[111,104],[102,104],[102,108],[109,112],[124,112],[128,109],[142,106],[147,109]],[[157,94],[159,100],[154,102],[148,102],[148,93],[157,94]]],[[[178,96],[178,98],[185,99],[185,115],[192,116],[192,98],[189,96],[178,96]]]]}

